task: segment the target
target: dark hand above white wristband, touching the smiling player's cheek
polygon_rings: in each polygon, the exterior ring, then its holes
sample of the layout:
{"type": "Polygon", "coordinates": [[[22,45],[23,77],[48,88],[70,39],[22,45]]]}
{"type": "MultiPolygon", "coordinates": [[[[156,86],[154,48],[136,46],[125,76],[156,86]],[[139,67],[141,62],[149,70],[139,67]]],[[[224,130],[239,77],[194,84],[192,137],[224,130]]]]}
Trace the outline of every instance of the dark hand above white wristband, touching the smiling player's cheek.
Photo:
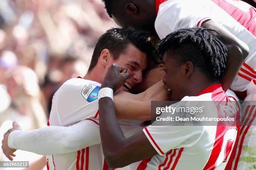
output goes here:
{"type": "Polygon", "coordinates": [[[127,72],[126,67],[113,64],[108,68],[108,72],[105,75],[101,88],[109,87],[115,92],[125,83],[125,80],[128,77],[129,73],[127,72]]]}

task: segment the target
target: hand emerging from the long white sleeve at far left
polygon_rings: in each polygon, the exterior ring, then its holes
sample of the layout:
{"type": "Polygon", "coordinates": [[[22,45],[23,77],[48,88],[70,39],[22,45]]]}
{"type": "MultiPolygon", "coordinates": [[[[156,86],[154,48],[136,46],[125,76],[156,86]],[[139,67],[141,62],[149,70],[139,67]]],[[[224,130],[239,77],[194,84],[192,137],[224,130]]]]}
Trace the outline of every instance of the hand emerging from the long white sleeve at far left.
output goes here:
{"type": "Polygon", "coordinates": [[[11,132],[13,132],[14,130],[21,130],[20,125],[17,122],[13,122],[13,128],[10,128],[5,134],[4,134],[4,138],[2,140],[2,150],[3,153],[5,154],[5,156],[9,159],[9,160],[13,160],[13,157],[15,157],[16,155],[14,154],[14,152],[16,151],[16,149],[12,149],[9,148],[8,146],[8,138],[11,132]]]}

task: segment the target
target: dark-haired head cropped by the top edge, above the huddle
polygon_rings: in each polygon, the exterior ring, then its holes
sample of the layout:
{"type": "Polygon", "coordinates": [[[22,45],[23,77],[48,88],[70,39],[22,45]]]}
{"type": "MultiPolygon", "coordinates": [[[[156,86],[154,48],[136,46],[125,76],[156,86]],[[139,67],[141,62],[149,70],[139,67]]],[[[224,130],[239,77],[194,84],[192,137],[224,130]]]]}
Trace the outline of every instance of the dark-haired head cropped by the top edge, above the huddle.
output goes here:
{"type": "Polygon", "coordinates": [[[132,27],[156,34],[155,0],[102,0],[108,15],[121,27],[132,27]]]}

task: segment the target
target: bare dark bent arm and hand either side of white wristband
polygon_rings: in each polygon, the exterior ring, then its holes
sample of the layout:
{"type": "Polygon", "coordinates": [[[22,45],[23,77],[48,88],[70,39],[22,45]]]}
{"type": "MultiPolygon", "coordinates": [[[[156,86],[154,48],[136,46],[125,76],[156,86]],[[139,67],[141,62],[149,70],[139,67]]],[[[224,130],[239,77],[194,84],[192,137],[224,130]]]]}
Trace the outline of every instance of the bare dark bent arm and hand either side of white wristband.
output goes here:
{"type": "MultiPolygon", "coordinates": [[[[101,88],[109,87],[115,91],[123,85],[128,73],[121,74],[120,67],[112,65],[109,68],[101,88]]],[[[114,103],[109,97],[99,100],[99,111],[102,149],[110,168],[124,167],[157,154],[142,130],[125,138],[115,115],[114,103]]]]}

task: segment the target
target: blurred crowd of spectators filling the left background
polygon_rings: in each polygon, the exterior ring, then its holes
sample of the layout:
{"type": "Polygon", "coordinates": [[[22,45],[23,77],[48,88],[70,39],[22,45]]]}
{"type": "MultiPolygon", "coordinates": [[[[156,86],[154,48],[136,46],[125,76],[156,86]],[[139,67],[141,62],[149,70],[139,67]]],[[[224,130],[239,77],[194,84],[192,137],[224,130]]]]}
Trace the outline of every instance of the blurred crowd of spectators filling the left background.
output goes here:
{"type": "Polygon", "coordinates": [[[101,0],[1,0],[1,138],[8,121],[46,125],[54,92],[86,74],[97,39],[112,27],[101,0]]]}

